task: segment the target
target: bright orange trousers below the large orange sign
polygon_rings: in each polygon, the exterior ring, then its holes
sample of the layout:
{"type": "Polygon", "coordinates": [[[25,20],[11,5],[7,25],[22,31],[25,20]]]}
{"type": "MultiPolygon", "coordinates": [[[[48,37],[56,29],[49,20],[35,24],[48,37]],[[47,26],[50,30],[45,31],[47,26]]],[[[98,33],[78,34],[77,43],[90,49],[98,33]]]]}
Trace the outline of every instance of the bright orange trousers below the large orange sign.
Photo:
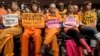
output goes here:
{"type": "Polygon", "coordinates": [[[28,42],[29,37],[33,38],[34,46],[35,46],[35,56],[41,56],[41,28],[36,28],[34,26],[27,27],[24,26],[24,33],[21,36],[21,56],[28,56],[28,42]]]}

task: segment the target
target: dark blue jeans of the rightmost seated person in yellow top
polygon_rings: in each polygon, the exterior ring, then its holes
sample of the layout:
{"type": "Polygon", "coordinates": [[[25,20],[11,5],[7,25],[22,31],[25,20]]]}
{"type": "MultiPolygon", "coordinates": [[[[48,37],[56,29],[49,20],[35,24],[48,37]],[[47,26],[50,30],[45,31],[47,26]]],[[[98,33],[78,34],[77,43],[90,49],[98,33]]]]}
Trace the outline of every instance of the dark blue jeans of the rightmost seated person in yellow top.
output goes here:
{"type": "Polygon", "coordinates": [[[80,32],[82,35],[87,36],[87,43],[91,46],[91,47],[96,47],[97,45],[97,41],[96,41],[96,36],[95,34],[98,33],[98,31],[95,28],[91,28],[91,27],[84,27],[80,29],[80,32]]]}

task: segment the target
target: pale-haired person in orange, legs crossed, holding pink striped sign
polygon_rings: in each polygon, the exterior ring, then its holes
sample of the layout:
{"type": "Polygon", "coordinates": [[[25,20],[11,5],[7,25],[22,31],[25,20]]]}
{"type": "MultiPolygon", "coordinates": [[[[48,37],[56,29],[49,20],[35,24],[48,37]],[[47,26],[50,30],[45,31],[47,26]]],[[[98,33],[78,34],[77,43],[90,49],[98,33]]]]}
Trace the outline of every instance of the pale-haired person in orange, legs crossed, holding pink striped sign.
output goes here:
{"type": "Polygon", "coordinates": [[[56,13],[56,5],[51,4],[49,7],[49,13],[45,16],[46,30],[45,39],[42,49],[51,47],[53,56],[59,56],[59,46],[57,43],[57,33],[60,31],[60,23],[62,21],[61,16],[56,13]],[[50,46],[51,44],[51,46],[50,46]]]}

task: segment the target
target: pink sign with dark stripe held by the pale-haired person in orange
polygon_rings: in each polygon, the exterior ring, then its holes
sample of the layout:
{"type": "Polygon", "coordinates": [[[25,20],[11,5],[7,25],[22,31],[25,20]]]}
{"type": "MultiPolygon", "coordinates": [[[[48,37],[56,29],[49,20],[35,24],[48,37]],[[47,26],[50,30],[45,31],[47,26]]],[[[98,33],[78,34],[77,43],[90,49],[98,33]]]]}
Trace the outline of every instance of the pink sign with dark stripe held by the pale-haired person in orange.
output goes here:
{"type": "Polygon", "coordinates": [[[46,22],[46,26],[48,28],[54,28],[54,27],[59,28],[61,25],[60,25],[60,21],[58,19],[51,19],[46,22]]]}

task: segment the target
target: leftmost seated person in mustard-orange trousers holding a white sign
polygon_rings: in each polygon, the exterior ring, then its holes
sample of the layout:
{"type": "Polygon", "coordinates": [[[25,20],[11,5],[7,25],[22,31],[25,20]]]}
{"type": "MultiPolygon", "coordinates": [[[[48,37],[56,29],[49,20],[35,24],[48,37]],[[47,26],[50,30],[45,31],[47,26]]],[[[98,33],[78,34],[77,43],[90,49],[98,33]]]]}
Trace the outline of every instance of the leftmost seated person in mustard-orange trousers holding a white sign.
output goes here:
{"type": "Polygon", "coordinates": [[[13,22],[15,23],[11,23],[12,21],[5,19],[6,15],[3,15],[4,17],[2,17],[2,24],[4,26],[4,29],[0,32],[0,52],[2,51],[2,49],[4,48],[4,56],[13,56],[13,49],[14,49],[14,44],[13,44],[13,37],[16,35],[19,35],[22,33],[22,29],[20,27],[20,13],[18,10],[18,5],[16,2],[12,2],[12,12],[9,13],[8,15],[14,15],[15,17],[17,17],[17,20],[13,19],[13,22]],[[4,22],[5,21],[5,22],[4,22]],[[10,24],[5,24],[5,23],[10,23],[10,24]],[[14,25],[13,25],[14,24],[14,25]],[[9,25],[9,26],[7,26],[9,25]]]}

